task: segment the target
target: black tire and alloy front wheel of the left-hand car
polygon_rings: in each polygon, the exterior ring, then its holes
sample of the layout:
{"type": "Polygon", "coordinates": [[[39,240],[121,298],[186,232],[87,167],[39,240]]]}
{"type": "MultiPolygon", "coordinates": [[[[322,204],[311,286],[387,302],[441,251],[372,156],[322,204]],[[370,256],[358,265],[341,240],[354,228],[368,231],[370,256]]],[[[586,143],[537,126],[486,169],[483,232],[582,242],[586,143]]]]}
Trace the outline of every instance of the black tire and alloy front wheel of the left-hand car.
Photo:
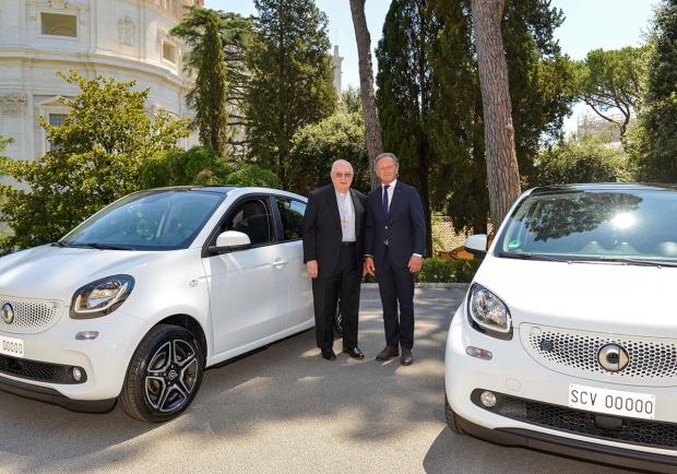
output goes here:
{"type": "Polygon", "coordinates": [[[193,401],[204,372],[204,356],[186,328],[157,324],[141,341],[127,369],[120,405],[132,418],[167,422],[193,401]]]}

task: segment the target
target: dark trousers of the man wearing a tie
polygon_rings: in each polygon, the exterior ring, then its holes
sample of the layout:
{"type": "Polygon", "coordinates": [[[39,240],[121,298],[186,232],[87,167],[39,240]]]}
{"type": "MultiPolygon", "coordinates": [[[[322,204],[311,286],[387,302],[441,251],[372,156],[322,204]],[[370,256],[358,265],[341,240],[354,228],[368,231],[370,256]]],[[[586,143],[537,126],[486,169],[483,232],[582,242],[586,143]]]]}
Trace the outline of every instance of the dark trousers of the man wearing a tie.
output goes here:
{"type": "Polygon", "coordinates": [[[383,262],[376,269],[376,280],[383,306],[385,344],[411,351],[414,347],[414,275],[406,266],[393,265],[385,247],[383,262]]]}

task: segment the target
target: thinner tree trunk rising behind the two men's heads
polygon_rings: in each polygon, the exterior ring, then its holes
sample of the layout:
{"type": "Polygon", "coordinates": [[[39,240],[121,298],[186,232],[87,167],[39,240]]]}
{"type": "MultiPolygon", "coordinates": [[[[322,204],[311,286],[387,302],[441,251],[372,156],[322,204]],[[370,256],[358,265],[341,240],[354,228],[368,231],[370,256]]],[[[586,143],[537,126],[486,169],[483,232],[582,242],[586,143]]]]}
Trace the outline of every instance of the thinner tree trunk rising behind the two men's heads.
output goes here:
{"type": "Polygon", "coordinates": [[[371,66],[371,38],[365,17],[365,0],[351,0],[351,14],[355,27],[355,40],[357,42],[357,56],[359,58],[359,95],[363,103],[363,116],[365,118],[365,132],[367,140],[367,154],[369,155],[369,175],[371,176],[371,189],[379,186],[373,162],[383,150],[381,125],[376,114],[376,96],[373,94],[373,69],[371,66]]]}

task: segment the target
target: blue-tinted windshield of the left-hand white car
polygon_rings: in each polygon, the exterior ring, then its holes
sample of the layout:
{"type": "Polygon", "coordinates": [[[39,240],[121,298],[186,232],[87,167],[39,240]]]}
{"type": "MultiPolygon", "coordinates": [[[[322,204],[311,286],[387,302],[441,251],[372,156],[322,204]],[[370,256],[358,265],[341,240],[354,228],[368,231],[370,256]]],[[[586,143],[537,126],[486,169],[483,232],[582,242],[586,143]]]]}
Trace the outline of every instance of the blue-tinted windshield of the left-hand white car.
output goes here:
{"type": "Polygon", "coordinates": [[[186,248],[225,193],[200,190],[142,191],[96,213],[59,246],[119,250],[186,248]]]}

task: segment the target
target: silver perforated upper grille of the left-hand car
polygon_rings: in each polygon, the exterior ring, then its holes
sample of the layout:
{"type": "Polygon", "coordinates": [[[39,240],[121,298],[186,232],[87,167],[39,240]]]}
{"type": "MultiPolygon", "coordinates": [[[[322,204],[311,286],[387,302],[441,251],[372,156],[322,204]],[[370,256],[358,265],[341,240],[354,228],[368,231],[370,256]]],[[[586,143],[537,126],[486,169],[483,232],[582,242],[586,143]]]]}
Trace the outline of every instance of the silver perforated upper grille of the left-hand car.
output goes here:
{"type": "Polygon", "coordinates": [[[35,334],[49,329],[63,312],[63,304],[51,299],[28,299],[0,295],[0,308],[12,305],[14,320],[0,318],[0,331],[15,334],[35,334]]]}

